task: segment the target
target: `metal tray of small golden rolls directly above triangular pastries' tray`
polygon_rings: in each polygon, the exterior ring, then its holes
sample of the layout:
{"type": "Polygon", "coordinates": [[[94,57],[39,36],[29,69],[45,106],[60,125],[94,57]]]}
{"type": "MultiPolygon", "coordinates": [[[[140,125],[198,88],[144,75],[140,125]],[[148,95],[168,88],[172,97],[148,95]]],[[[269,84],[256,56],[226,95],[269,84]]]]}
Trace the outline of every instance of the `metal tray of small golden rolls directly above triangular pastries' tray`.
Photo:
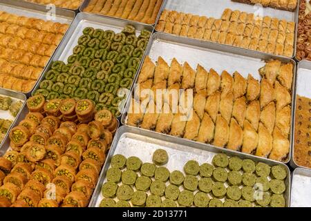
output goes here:
{"type": "MultiPolygon", "coordinates": [[[[299,2],[297,6],[299,6],[299,2]]],[[[214,1],[214,0],[205,0],[205,1],[167,0],[167,3],[162,8],[162,11],[164,9],[176,10],[178,12],[187,12],[193,15],[214,17],[214,18],[220,19],[221,15],[223,14],[223,11],[226,8],[230,8],[232,10],[240,10],[240,11],[247,12],[247,13],[254,13],[255,15],[260,15],[260,16],[276,17],[277,19],[285,19],[286,21],[294,21],[295,23],[298,23],[298,17],[299,17],[299,7],[297,7],[294,12],[290,12],[290,11],[285,11],[285,10],[278,10],[275,8],[261,8],[256,5],[252,6],[249,4],[238,3],[238,2],[231,1],[231,0],[218,0],[218,1],[214,1]]],[[[157,23],[158,23],[158,20],[157,20],[157,23]]],[[[297,36],[297,26],[295,27],[294,46],[296,46],[296,36],[297,36]]],[[[245,49],[245,50],[249,50],[249,49],[245,49]]],[[[256,50],[249,50],[249,51],[256,51],[256,50]]],[[[292,55],[292,57],[294,57],[295,55],[296,55],[296,47],[294,47],[294,54],[292,55]]],[[[280,57],[284,57],[284,56],[280,56],[280,57]]]]}

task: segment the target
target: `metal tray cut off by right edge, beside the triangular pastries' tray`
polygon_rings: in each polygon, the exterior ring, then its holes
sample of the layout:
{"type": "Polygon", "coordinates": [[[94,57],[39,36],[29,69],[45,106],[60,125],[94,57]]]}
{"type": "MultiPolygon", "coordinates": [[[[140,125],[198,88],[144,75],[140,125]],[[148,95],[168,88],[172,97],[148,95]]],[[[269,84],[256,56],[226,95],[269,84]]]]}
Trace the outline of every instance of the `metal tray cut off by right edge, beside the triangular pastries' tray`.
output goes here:
{"type": "MultiPolygon", "coordinates": [[[[296,93],[294,96],[294,106],[296,106],[296,95],[301,95],[303,97],[308,97],[311,99],[311,90],[310,90],[310,84],[311,84],[311,61],[303,60],[298,63],[297,71],[296,71],[296,93]]],[[[296,108],[293,109],[294,115],[293,115],[293,121],[292,121],[292,130],[294,132],[295,130],[295,116],[296,116],[296,108]]],[[[293,145],[292,145],[292,157],[290,160],[290,166],[293,168],[296,167],[303,167],[305,169],[310,169],[304,166],[301,166],[299,164],[296,164],[294,160],[294,133],[292,133],[293,137],[293,145]]]]}

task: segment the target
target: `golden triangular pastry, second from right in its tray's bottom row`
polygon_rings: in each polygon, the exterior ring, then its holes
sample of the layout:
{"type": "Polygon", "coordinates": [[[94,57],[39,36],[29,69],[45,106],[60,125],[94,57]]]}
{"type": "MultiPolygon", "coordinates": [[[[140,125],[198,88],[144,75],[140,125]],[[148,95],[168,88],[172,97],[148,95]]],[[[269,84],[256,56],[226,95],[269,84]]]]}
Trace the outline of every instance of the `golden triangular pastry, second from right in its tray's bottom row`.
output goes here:
{"type": "Polygon", "coordinates": [[[267,157],[272,150],[272,135],[267,131],[267,128],[262,123],[258,127],[258,145],[256,149],[256,156],[267,157]]]}

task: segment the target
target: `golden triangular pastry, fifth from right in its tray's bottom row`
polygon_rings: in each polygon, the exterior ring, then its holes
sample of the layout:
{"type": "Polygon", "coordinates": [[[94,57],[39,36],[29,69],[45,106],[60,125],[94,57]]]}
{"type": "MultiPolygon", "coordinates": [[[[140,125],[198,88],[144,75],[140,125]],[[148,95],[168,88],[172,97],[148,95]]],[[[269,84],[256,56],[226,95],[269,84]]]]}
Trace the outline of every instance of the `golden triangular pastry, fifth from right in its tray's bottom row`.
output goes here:
{"type": "Polygon", "coordinates": [[[227,121],[221,116],[217,116],[214,136],[214,146],[225,147],[229,140],[229,126],[227,121]]]}

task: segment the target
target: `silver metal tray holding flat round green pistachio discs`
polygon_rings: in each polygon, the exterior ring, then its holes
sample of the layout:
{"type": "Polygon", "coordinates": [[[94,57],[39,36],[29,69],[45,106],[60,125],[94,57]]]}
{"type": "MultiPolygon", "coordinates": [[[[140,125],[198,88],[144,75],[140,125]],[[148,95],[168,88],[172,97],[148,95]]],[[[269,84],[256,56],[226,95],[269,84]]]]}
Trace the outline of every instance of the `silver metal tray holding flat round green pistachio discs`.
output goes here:
{"type": "Polygon", "coordinates": [[[270,166],[283,165],[288,172],[288,177],[285,180],[285,201],[286,206],[290,205],[290,169],[281,162],[272,162],[243,153],[222,150],[192,141],[181,140],[178,137],[162,136],[152,131],[141,130],[140,128],[122,126],[115,135],[111,151],[109,152],[106,163],[104,164],[104,169],[102,169],[100,175],[100,182],[97,183],[89,206],[96,207],[102,200],[101,188],[102,184],[106,182],[106,172],[109,169],[111,157],[113,155],[122,154],[125,157],[136,156],[140,157],[143,162],[152,162],[153,152],[158,148],[163,148],[169,153],[167,168],[170,171],[181,171],[183,165],[189,160],[197,160],[199,164],[204,162],[211,163],[212,158],[217,153],[225,153],[228,156],[238,156],[241,157],[241,159],[251,159],[254,160],[254,162],[264,162],[270,166]]]}

